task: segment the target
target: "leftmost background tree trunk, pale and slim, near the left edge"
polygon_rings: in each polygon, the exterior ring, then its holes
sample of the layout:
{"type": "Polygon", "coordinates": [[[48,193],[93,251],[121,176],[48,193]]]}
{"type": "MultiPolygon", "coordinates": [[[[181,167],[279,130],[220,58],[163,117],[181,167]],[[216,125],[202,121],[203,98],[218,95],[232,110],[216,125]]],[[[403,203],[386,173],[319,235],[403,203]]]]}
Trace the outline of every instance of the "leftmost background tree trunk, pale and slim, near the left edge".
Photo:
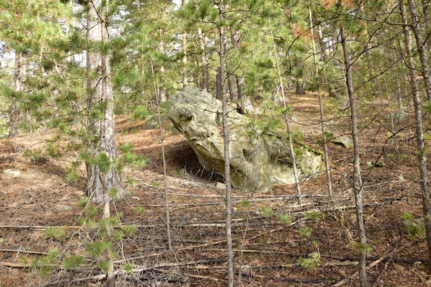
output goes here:
{"type": "MultiPolygon", "coordinates": [[[[23,89],[23,76],[25,73],[25,59],[19,52],[15,52],[15,70],[14,70],[14,92],[19,94],[23,89]]],[[[19,134],[18,123],[21,120],[21,109],[17,98],[13,99],[12,112],[9,120],[9,138],[19,134]]]]}

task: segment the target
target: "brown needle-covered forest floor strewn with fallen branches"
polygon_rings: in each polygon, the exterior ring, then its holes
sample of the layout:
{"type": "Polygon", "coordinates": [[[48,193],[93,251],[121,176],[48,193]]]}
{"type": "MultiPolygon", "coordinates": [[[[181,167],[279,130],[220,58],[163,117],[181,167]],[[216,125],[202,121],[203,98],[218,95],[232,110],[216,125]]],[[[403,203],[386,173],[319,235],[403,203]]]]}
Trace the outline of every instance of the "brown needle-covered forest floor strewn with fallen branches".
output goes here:
{"type": "MultiPolygon", "coordinates": [[[[348,110],[324,100],[332,111],[326,116],[328,129],[337,136],[347,134],[348,110]]],[[[317,96],[291,94],[288,105],[304,142],[319,147],[317,96]]],[[[431,286],[424,236],[403,231],[406,213],[417,219],[422,212],[414,127],[408,128],[408,118],[395,120],[400,129],[395,142],[388,137],[389,113],[378,99],[361,104],[359,114],[365,228],[372,247],[367,257],[370,286],[431,286]],[[370,169],[367,162],[379,164],[370,169]]],[[[169,248],[159,130],[125,116],[116,122],[118,143],[132,143],[136,153],[148,157],[141,170],[125,168],[128,194],[112,204],[118,228],[138,228],[112,245],[114,267],[140,268],[132,275],[118,273],[116,286],[226,286],[224,190],[216,188],[222,179],[202,171],[185,138],[168,129],[169,248]]],[[[84,247],[95,240],[95,228],[78,220],[84,215],[78,200],[85,179],[67,182],[65,159],[24,156],[47,138],[32,134],[0,140],[0,287],[103,286],[98,260],[84,247]],[[50,257],[52,248],[59,254],[50,257]],[[66,269],[61,259],[70,255],[85,255],[86,260],[66,269]]],[[[359,286],[353,148],[330,143],[328,152],[332,198],[325,173],[300,184],[301,202],[295,184],[266,193],[233,189],[235,286],[359,286]],[[283,215],[291,221],[282,222],[283,215]]]]}

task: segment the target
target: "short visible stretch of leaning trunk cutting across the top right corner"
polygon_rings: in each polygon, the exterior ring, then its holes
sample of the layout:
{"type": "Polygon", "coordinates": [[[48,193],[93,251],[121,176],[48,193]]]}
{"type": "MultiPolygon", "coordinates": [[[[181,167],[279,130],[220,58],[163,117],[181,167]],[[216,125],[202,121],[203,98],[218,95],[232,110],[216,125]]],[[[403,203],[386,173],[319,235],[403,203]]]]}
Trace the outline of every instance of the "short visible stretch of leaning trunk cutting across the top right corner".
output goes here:
{"type": "Polygon", "coordinates": [[[410,8],[410,14],[412,15],[412,31],[414,34],[414,39],[416,40],[417,52],[419,54],[419,59],[421,59],[423,81],[425,82],[425,92],[427,100],[431,100],[431,74],[430,74],[430,64],[428,62],[428,54],[425,50],[425,43],[422,39],[421,27],[419,25],[419,17],[417,14],[416,3],[414,0],[408,0],[408,6],[410,8]]]}

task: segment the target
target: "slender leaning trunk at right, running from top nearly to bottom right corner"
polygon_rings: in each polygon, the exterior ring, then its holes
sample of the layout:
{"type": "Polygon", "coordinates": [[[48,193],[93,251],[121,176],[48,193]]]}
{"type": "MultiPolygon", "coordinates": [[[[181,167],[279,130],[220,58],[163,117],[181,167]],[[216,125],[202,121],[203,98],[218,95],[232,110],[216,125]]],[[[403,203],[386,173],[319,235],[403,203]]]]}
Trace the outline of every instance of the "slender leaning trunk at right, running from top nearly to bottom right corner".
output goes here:
{"type": "MultiPolygon", "coordinates": [[[[409,0],[410,2],[411,0],[409,0]]],[[[399,10],[401,19],[404,24],[408,24],[406,6],[404,1],[399,1],[399,10]]],[[[410,11],[412,12],[412,11],[410,11]]],[[[413,20],[412,20],[413,21],[413,20]]],[[[428,259],[431,260],[431,206],[430,206],[430,188],[428,187],[428,176],[426,168],[425,142],[423,139],[423,123],[422,123],[422,107],[421,98],[419,96],[419,87],[416,81],[416,70],[414,69],[414,61],[412,55],[412,42],[407,25],[403,25],[404,43],[406,45],[406,65],[410,74],[410,84],[412,85],[414,117],[416,119],[416,140],[417,140],[417,159],[419,163],[419,183],[421,185],[422,209],[423,218],[425,221],[425,235],[428,247],[428,259]]],[[[428,266],[431,270],[431,266],[428,266]]],[[[429,271],[430,272],[430,271],[429,271]]]]}

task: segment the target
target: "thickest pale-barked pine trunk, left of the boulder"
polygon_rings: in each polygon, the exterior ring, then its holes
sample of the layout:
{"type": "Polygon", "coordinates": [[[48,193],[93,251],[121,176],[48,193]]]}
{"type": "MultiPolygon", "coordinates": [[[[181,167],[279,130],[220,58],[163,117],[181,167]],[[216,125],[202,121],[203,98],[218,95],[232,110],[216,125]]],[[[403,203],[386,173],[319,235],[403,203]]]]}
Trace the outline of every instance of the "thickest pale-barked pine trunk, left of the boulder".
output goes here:
{"type": "MultiPolygon", "coordinates": [[[[108,41],[103,0],[88,4],[87,39],[108,41]]],[[[114,109],[109,56],[87,50],[87,195],[96,204],[105,202],[106,194],[116,198],[125,194],[120,172],[114,164],[118,155],[115,145],[114,109]],[[92,111],[98,109],[100,113],[92,111]],[[101,116],[94,116],[101,114],[101,116]],[[98,159],[98,160],[96,160],[98,159]]],[[[111,198],[112,199],[112,198],[111,198]]]]}

